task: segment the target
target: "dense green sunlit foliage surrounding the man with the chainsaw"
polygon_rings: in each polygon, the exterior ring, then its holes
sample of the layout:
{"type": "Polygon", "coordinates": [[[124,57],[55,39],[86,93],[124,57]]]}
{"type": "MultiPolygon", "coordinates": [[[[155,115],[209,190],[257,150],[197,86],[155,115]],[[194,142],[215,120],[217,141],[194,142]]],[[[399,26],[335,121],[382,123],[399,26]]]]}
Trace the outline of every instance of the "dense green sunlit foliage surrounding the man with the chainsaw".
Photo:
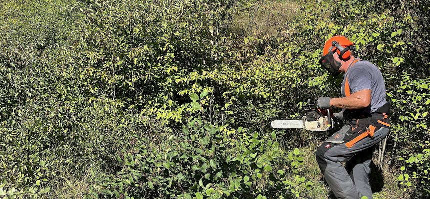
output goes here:
{"type": "Polygon", "coordinates": [[[0,4],[0,198],[327,198],[327,135],[268,124],[339,95],[336,34],[392,104],[375,156],[399,192],[374,197],[430,195],[428,1],[0,4]]]}

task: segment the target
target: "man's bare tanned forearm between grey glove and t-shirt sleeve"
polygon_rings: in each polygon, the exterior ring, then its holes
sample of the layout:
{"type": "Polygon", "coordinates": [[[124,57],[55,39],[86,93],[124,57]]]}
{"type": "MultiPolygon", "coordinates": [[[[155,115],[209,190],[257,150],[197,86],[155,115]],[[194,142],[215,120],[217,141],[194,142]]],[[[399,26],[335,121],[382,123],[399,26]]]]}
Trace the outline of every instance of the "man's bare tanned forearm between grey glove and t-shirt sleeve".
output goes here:
{"type": "Polygon", "coordinates": [[[332,98],[330,106],[345,109],[360,109],[370,105],[371,90],[363,89],[352,93],[347,97],[332,98]]]}

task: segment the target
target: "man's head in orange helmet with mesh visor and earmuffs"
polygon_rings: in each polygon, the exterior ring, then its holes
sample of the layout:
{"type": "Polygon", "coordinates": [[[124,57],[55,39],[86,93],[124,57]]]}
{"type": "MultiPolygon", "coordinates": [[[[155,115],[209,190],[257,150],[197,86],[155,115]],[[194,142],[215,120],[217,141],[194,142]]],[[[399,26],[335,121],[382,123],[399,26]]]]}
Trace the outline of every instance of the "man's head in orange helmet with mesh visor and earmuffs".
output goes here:
{"type": "Polygon", "coordinates": [[[354,59],[352,51],[354,44],[344,36],[332,36],[325,42],[322,50],[321,64],[331,75],[336,76],[339,72],[345,72],[349,62],[354,59]],[[352,58],[352,59],[351,59],[352,58]]]}

